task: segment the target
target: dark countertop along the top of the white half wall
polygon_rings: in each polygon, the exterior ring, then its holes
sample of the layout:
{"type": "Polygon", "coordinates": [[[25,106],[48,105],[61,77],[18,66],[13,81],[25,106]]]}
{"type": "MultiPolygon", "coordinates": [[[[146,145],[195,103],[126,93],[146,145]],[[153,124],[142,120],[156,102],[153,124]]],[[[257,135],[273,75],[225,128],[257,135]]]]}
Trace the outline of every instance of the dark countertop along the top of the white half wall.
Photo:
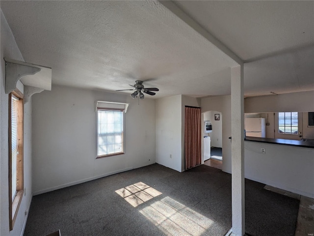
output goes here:
{"type": "Polygon", "coordinates": [[[307,147],[314,148],[314,142],[298,141],[298,140],[285,140],[285,139],[270,139],[270,138],[257,138],[257,137],[246,137],[244,141],[250,142],[265,142],[272,144],[297,146],[297,147],[307,147]]]}

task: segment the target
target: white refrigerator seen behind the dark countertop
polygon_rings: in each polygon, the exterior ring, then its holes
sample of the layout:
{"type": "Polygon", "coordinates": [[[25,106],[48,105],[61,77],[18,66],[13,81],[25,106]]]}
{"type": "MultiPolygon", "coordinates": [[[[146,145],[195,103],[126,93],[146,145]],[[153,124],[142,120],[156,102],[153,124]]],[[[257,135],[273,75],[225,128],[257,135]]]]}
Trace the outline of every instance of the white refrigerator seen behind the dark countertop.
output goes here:
{"type": "Polygon", "coordinates": [[[247,137],[266,137],[265,118],[245,118],[244,129],[247,137]]]}

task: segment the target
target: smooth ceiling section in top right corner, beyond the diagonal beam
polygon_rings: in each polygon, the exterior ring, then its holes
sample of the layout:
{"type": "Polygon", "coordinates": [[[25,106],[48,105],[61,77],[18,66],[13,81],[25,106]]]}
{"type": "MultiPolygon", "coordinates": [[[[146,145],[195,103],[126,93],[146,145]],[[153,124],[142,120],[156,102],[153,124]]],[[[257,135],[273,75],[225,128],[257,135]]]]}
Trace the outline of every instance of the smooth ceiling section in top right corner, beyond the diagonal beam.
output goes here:
{"type": "Polygon", "coordinates": [[[314,44],[314,1],[175,1],[244,61],[314,44]]]}

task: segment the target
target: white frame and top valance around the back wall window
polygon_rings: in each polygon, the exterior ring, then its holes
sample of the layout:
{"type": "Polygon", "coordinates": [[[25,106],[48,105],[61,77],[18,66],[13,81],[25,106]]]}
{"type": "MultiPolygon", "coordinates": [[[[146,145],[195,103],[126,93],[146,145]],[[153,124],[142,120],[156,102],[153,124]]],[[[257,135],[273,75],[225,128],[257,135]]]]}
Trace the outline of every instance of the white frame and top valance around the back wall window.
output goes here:
{"type": "Polygon", "coordinates": [[[117,103],[117,102],[106,102],[106,101],[96,101],[95,102],[95,111],[96,111],[96,159],[111,157],[116,155],[125,154],[125,114],[127,112],[129,104],[128,103],[117,103]],[[122,131],[122,150],[121,152],[115,152],[105,155],[98,155],[98,111],[120,111],[123,112],[122,122],[123,122],[123,131],[122,131]]]}

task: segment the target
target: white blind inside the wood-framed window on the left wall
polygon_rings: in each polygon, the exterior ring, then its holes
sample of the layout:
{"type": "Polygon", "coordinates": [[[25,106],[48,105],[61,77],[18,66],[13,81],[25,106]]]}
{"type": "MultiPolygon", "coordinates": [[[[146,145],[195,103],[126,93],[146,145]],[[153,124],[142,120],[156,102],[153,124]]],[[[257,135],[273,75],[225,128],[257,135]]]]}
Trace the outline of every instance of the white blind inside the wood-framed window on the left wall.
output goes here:
{"type": "Polygon", "coordinates": [[[11,136],[12,136],[12,201],[16,195],[16,182],[17,182],[17,157],[18,157],[18,100],[12,95],[11,98],[11,136]]]}

